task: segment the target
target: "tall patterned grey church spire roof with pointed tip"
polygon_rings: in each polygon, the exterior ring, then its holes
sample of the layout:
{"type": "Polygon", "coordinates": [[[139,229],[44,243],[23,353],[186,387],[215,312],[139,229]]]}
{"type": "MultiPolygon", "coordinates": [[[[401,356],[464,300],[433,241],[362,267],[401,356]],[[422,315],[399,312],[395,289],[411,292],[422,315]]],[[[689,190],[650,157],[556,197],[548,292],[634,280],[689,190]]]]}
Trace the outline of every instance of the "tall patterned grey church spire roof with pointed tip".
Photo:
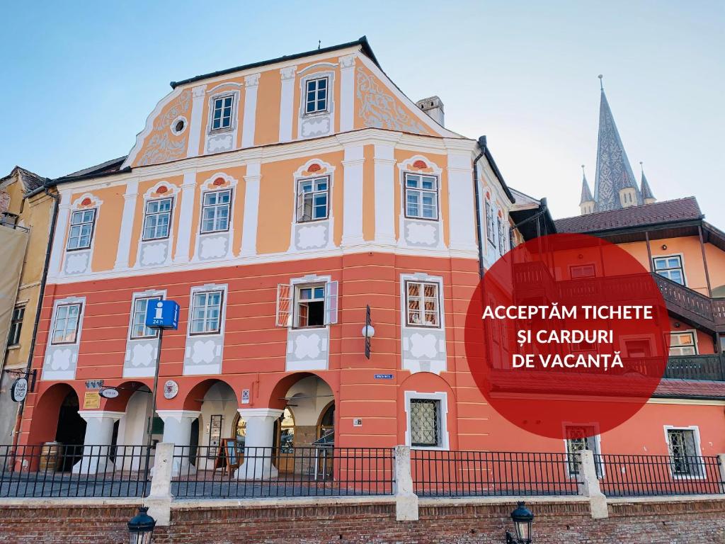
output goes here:
{"type": "Polygon", "coordinates": [[[637,205],[641,205],[642,194],[637,189],[634,173],[614,123],[612,110],[602,88],[599,108],[599,143],[597,144],[597,177],[595,178],[595,211],[618,210],[622,207],[620,189],[633,187],[637,205]]]}

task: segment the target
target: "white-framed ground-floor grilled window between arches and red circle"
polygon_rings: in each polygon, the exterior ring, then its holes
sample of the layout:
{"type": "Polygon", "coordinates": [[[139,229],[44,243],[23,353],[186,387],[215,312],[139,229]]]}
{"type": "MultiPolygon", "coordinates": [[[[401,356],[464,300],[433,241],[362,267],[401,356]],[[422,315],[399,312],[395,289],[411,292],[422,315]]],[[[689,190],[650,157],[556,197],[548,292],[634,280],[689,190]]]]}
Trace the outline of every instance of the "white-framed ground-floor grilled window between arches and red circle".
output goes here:
{"type": "Polygon", "coordinates": [[[448,404],[444,392],[406,391],[405,413],[407,445],[419,449],[448,449],[448,404]]]}

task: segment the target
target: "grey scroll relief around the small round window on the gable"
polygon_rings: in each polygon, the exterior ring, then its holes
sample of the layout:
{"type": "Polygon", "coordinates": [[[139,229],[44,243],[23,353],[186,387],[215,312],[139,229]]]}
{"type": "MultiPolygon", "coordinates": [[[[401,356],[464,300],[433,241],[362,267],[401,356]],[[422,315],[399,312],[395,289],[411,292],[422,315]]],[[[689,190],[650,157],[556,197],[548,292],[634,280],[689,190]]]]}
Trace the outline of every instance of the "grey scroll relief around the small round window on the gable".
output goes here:
{"type": "Polygon", "coordinates": [[[189,110],[191,110],[191,90],[187,89],[170,102],[166,112],[154,121],[154,128],[144,145],[144,154],[138,159],[136,166],[154,165],[186,156],[188,131],[174,136],[169,127],[178,117],[188,118],[189,110]]]}

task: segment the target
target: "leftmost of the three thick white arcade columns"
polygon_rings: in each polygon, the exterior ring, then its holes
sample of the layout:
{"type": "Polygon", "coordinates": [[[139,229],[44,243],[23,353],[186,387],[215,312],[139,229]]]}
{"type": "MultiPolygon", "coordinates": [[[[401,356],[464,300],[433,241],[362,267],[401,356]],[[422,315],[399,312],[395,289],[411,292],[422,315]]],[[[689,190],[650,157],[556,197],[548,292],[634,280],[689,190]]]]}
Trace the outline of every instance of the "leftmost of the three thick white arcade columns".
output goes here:
{"type": "Polygon", "coordinates": [[[113,437],[113,424],[121,419],[123,412],[107,410],[79,410],[86,420],[86,435],[83,437],[83,458],[75,463],[73,474],[96,474],[113,471],[108,458],[108,448],[113,437]]]}

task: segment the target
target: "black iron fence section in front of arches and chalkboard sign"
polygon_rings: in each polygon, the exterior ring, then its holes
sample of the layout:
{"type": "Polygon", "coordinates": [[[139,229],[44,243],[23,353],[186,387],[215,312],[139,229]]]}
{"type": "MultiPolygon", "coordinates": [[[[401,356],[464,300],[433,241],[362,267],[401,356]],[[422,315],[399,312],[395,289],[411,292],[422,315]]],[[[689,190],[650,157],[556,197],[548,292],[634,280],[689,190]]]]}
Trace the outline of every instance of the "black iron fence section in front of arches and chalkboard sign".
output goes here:
{"type": "Polygon", "coordinates": [[[392,448],[174,448],[171,492],[191,497],[391,495],[392,448]]]}

